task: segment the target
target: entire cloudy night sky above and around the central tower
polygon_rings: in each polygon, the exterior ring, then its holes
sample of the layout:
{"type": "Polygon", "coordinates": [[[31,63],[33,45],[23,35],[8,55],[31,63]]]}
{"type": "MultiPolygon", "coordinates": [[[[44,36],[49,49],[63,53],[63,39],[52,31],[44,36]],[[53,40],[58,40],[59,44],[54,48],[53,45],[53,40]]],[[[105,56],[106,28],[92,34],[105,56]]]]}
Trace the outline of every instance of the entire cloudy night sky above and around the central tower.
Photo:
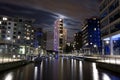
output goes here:
{"type": "Polygon", "coordinates": [[[98,16],[100,0],[0,0],[0,15],[35,19],[35,24],[52,31],[54,21],[64,18],[64,27],[72,38],[85,18],[98,16]]]}

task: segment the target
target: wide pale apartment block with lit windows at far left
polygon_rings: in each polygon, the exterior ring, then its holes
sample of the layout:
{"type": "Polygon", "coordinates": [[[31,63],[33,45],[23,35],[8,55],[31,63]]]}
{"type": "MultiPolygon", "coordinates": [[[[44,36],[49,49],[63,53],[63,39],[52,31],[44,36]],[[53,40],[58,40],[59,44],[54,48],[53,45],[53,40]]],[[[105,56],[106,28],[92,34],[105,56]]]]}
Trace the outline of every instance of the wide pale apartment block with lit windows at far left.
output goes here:
{"type": "Polygon", "coordinates": [[[33,44],[33,20],[0,16],[0,53],[27,54],[33,44]]]}

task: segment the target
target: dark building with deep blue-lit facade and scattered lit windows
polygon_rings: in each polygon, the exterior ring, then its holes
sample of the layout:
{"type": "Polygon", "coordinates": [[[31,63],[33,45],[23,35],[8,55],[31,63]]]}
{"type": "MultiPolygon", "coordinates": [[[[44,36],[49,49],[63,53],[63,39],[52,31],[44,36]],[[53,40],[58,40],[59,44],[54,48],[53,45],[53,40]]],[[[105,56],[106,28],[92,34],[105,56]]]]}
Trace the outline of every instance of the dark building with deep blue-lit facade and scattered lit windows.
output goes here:
{"type": "Polygon", "coordinates": [[[100,24],[96,17],[86,19],[82,27],[83,49],[89,53],[97,54],[101,52],[100,24]]]}

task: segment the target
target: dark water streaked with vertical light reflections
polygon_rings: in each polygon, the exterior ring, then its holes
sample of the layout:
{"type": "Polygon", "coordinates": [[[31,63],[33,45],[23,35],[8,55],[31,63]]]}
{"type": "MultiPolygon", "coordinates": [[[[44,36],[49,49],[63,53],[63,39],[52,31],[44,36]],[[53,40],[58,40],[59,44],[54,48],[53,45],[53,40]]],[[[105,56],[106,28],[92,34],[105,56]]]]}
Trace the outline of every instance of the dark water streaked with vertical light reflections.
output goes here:
{"type": "Polygon", "coordinates": [[[97,69],[95,63],[51,58],[0,73],[0,80],[120,80],[120,76],[97,69]]]}

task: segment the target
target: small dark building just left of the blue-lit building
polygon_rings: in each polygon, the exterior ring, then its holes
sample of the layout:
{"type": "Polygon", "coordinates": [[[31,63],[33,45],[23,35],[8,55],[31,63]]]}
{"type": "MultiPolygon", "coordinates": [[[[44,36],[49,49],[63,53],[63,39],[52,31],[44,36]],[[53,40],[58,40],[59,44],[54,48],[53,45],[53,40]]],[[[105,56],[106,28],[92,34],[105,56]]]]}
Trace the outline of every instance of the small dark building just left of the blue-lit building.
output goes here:
{"type": "Polygon", "coordinates": [[[82,48],[82,32],[74,34],[74,50],[79,51],[82,48]]]}

